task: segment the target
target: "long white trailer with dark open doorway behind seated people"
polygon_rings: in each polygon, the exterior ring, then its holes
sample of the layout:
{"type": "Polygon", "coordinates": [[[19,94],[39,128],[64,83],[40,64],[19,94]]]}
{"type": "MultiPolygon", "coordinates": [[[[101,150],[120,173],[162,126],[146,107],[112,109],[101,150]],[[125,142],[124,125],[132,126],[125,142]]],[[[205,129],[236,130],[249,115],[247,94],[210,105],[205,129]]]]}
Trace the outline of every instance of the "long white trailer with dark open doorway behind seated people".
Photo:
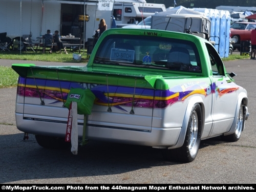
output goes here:
{"type": "Polygon", "coordinates": [[[111,11],[97,10],[98,1],[53,1],[53,0],[1,0],[0,33],[7,32],[10,38],[32,34],[36,40],[48,29],[60,31],[60,35],[72,34],[83,40],[91,38],[104,18],[111,25],[111,11]],[[89,15],[90,20],[79,20],[89,15]]]}

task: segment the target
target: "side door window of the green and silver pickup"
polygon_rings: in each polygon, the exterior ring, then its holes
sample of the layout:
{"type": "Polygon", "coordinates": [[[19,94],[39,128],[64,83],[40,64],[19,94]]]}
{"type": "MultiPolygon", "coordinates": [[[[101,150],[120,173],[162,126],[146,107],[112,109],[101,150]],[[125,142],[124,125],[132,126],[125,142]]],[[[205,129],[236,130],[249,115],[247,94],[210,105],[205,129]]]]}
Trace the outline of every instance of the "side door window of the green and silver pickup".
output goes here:
{"type": "Polygon", "coordinates": [[[206,43],[208,55],[210,59],[212,75],[223,75],[225,76],[223,62],[216,49],[210,44],[206,43]]]}

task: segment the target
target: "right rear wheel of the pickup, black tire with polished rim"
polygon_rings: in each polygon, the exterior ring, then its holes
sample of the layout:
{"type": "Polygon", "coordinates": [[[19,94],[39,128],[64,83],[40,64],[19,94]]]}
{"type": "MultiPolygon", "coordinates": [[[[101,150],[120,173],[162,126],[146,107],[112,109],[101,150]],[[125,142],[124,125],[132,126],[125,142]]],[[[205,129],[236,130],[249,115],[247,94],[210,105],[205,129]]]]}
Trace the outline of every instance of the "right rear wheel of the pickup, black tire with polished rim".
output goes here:
{"type": "Polygon", "coordinates": [[[202,133],[202,110],[200,104],[195,104],[191,110],[187,131],[182,147],[166,150],[164,157],[184,163],[192,162],[198,154],[202,133]]]}

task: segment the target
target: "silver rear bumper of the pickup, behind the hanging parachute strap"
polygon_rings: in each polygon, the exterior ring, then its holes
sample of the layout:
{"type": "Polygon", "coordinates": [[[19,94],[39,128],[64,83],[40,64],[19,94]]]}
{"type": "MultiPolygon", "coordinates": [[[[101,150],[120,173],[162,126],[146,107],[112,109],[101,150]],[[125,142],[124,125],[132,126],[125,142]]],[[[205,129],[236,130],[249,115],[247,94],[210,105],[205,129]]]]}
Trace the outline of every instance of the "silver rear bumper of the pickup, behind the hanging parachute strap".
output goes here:
{"type": "MultiPolygon", "coordinates": [[[[16,124],[18,130],[38,135],[54,137],[65,137],[67,122],[44,121],[35,119],[24,119],[23,114],[16,113],[16,124]]],[[[90,124],[87,122],[87,139],[111,141],[125,144],[135,144],[164,148],[174,146],[178,142],[181,127],[159,128],[152,127],[152,131],[129,130],[116,126],[104,126],[90,124]]],[[[83,125],[78,123],[78,137],[82,137],[83,125]]]]}

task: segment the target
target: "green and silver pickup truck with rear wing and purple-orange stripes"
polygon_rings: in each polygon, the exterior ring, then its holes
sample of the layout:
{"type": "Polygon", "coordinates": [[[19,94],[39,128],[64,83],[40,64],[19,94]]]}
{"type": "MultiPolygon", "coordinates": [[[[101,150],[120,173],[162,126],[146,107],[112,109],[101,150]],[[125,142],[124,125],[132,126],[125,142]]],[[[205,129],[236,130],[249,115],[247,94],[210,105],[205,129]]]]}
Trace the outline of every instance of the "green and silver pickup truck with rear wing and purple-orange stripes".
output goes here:
{"type": "MultiPolygon", "coordinates": [[[[42,147],[90,140],[161,149],[193,161],[200,141],[237,141],[245,127],[247,92],[201,37],[152,29],[109,29],[87,65],[13,64],[19,74],[17,129],[42,147]]],[[[73,148],[73,150],[72,150],[73,148]]]]}

